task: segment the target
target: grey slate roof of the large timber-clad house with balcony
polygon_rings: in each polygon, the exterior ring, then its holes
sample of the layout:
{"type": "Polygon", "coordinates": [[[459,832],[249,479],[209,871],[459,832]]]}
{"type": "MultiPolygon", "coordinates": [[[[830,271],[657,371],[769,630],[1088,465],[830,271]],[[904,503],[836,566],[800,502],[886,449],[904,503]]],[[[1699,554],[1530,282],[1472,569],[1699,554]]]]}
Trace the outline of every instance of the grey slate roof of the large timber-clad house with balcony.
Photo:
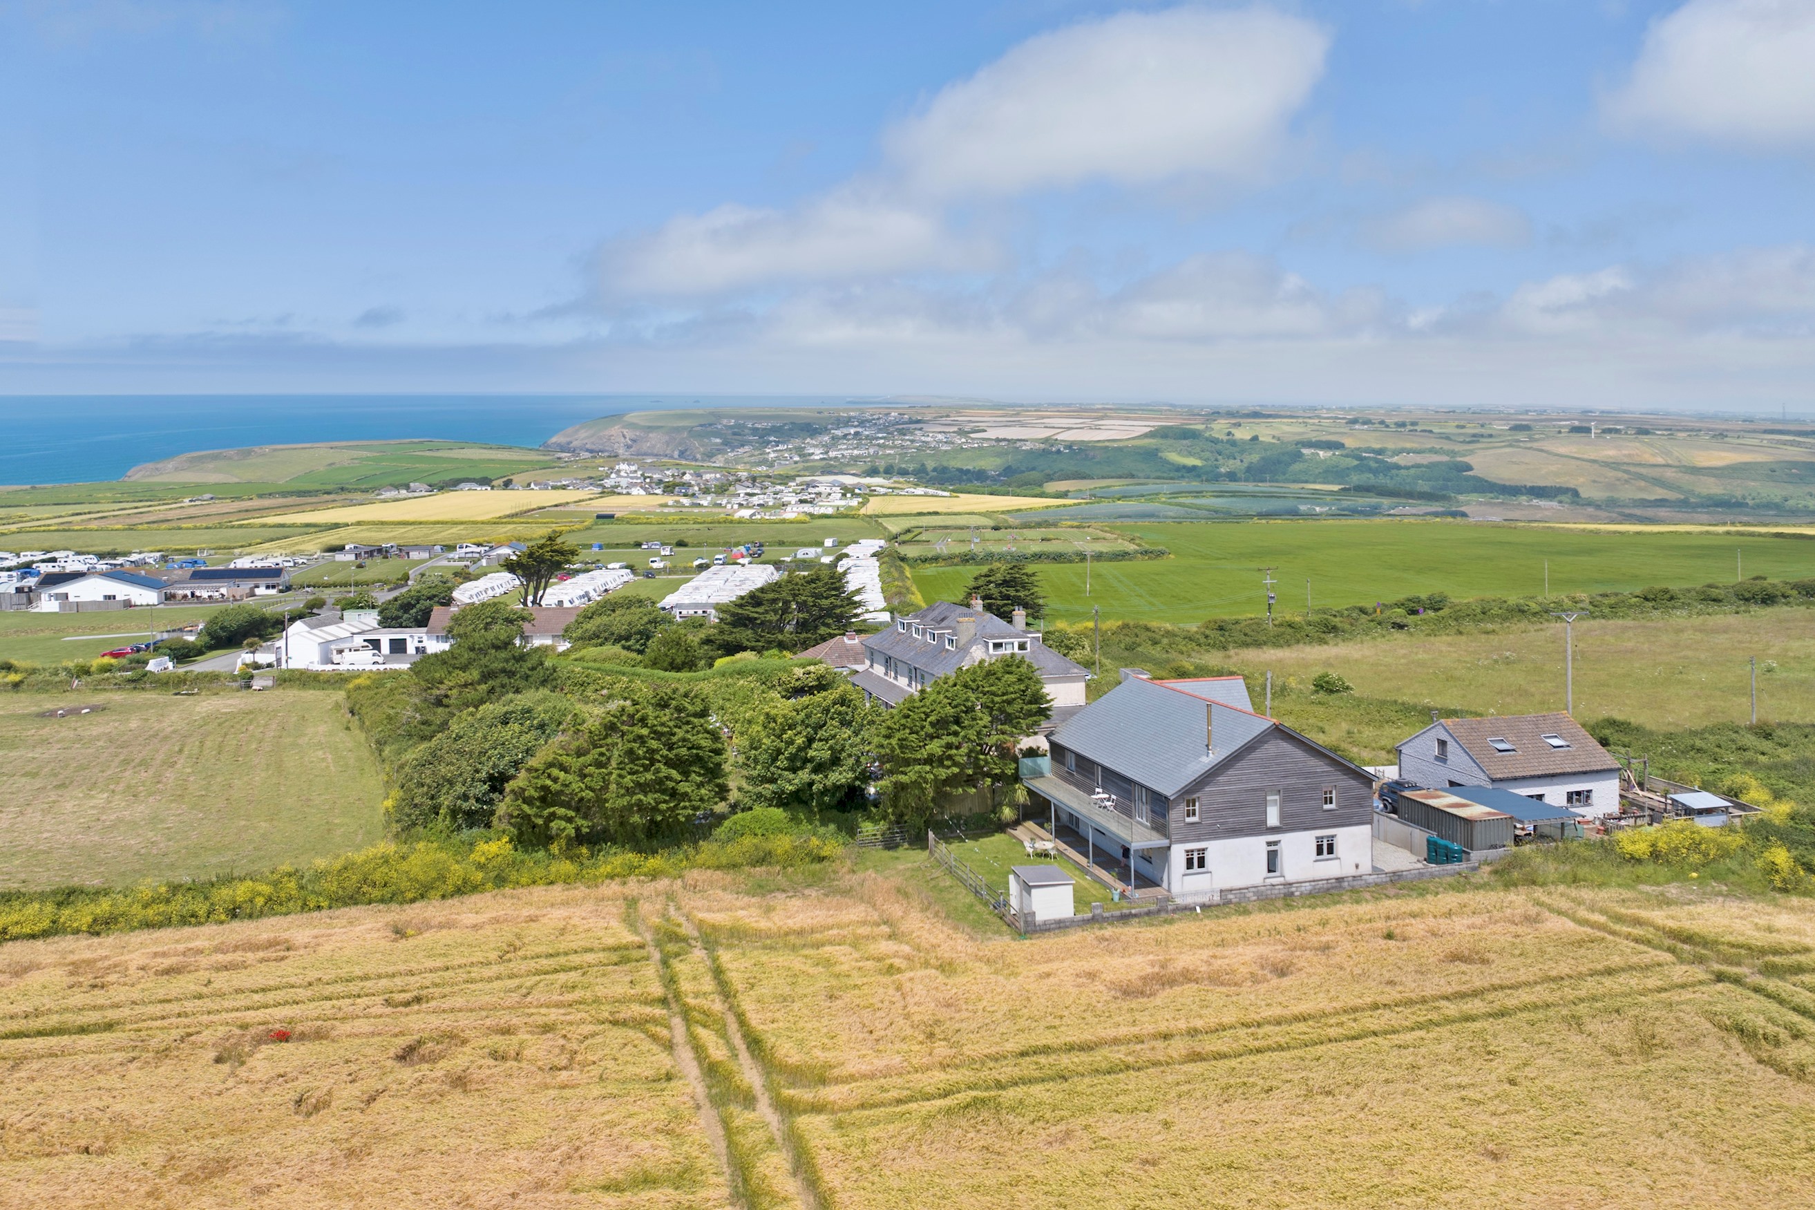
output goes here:
{"type": "Polygon", "coordinates": [[[1227,702],[1236,697],[1229,680],[1238,678],[1123,680],[1053,731],[1053,742],[1172,796],[1278,726],[1247,707],[1245,686],[1243,704],[1227,702]],[[1205,722],[1214,751],[1203,744],[1205,722]]]}

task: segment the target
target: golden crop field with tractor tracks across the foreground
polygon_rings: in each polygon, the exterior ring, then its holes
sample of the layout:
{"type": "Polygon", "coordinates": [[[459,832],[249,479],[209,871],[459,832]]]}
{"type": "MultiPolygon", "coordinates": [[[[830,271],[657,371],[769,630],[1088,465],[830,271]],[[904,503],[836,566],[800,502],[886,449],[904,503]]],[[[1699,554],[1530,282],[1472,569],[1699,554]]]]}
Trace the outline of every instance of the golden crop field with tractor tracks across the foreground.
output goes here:
{"type": "Polygon", "coordinates": [[[1811,972],[1712,891],[1009,942],[875,873],[13,943],[0,1203],[1802,1206],[1811,972]]]}

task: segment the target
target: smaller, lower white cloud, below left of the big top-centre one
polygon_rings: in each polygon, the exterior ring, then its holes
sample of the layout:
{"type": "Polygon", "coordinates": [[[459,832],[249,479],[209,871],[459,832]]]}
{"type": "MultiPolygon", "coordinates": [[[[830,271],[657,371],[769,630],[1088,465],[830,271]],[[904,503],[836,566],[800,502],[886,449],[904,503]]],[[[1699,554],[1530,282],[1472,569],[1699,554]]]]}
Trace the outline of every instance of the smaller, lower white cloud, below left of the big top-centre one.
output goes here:
{"type": "Polygon", "coordinates": [[[937,216],[849,190],[795,210],[721,205],[606,249],[621,296],[726,294],[790,281],[842,281],[917,268],[966,268],[987,252],[937,216]]]}

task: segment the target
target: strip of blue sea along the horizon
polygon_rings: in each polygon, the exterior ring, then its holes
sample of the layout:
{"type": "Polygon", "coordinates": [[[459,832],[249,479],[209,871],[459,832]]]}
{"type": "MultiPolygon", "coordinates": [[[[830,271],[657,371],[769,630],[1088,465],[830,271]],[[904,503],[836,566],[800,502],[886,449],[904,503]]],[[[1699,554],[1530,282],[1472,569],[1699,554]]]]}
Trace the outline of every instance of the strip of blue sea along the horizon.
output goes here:
{"type": "Polygon", "coordinates": [[[98,483],[194,450],[439,439],[539,446],[659,408],[844,406],[842,395],[0,395],[0,484],[98,483]]]}

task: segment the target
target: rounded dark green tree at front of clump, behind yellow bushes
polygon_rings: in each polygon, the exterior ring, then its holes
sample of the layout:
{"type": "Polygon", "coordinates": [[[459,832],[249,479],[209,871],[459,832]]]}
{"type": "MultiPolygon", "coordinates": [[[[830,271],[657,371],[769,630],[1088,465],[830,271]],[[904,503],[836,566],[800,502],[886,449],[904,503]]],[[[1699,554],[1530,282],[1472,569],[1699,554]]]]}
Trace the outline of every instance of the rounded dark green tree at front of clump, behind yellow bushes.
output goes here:
{"type": "Polygon", "coordinates": [[[724,802],[724,737],[692,689],[646,686],[539,753],[506,787],[495,824],[557,853],[644,844],[724,802]]]}

